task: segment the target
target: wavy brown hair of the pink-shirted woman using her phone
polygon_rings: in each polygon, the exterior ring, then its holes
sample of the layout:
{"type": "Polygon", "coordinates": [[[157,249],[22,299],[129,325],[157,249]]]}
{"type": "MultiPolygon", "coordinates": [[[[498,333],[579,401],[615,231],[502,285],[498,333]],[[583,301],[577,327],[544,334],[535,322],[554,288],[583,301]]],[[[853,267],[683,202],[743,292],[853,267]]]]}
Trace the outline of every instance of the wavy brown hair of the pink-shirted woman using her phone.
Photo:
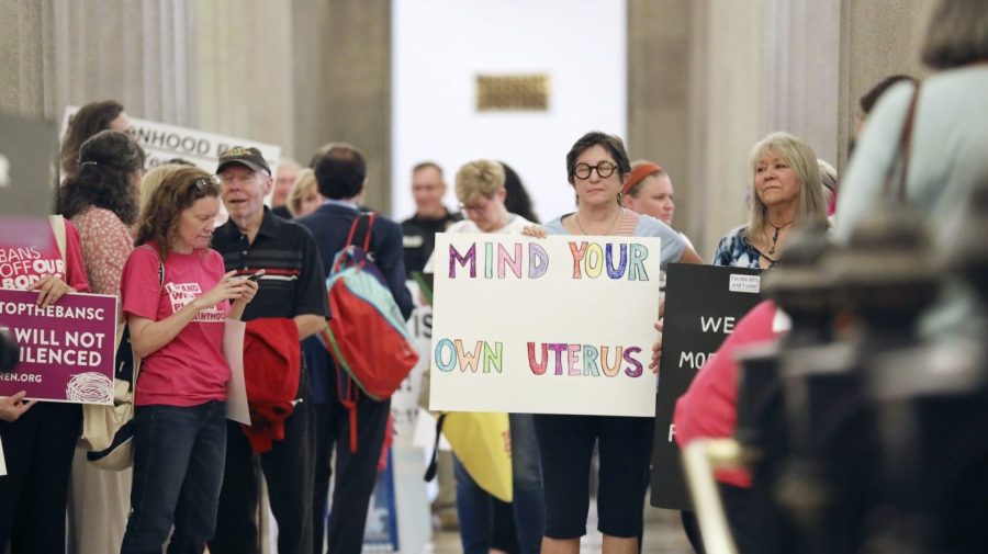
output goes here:
{"type": "Polygon", "coordinates": [[[206,196],[220,196],[220,181],[215,176],[194,167],[176,169],[161,181],[141,214],[134,246],[154,240],[161,259],[168,258],[182,212],[206,196]]]}

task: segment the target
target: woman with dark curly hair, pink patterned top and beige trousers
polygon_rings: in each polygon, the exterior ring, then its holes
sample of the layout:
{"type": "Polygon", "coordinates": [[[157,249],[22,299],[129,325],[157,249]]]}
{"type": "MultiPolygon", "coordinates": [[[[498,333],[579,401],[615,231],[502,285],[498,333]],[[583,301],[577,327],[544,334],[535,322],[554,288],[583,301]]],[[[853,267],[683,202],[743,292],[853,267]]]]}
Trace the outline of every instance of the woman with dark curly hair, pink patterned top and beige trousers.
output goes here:
{"type": "MultiPolygon", "coordinates": [[[[79,229],[86,274],[96,294],[120,296],[124,262],[134,249],[130,229],[137,221],[144,159],[144,150],[128,135],[102,131],[82,144],[76,173],[59,190],[58,210],[79,229]]],[[[124,348],[130,346],[124,342],[124,348]]],[[[113,407],[87,406],[83,417],[104,418],[101,411],[108,409],[113,407]]],[[[86,460],[89,446],[83,437],[72,461],[69,551],[111,552],[127,523],[131,470],[93,466],[86,460]]]]}

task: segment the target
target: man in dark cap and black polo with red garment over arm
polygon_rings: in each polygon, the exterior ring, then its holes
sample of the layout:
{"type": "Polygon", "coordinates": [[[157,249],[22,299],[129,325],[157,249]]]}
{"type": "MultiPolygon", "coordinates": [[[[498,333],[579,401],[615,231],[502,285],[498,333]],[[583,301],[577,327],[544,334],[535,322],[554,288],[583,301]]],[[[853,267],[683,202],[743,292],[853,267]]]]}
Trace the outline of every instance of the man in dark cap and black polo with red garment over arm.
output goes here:
{"type": "MultiPolygon", "coordinates": [[[[229,221],[216,228],[212,247],[223,255],[226,271],[236,270],[247,276],[263,270],[255,302],[244,312],[247,340],[261,336],[266,342],[288,344],[297,349],[291,353],[299,359],[299,341],[315,333],[329,316],[323,263],[315,240],[308,229],[278,217],[265,205],[273,181],[270,166],[257,148],[235,146],[226,150],[220,157],[216,173],[223,183],[223,203],[229,221]],[[281,335],[272,337],[274,332],[281,335]]],[[[304,363],[301,368],[292,368],[290,362],[272,366],[267,359],[247,358],[245,373],[260,371],[266,375],[265,382],[284,377],[292,387],[292,378],[297,378],[297,394],[289,398],[294,407],[282,421],[282,439],[263,436],[263,429],[270,426],[256,420],[259,410],[254,407],[254,427],[245,429],[227,421],[226,465],[210,552],[258,552],[257,455],[268,484],[271,511],[278,521],[278,552],[311,554],[314,470],[307,371],[304,363]]]]}

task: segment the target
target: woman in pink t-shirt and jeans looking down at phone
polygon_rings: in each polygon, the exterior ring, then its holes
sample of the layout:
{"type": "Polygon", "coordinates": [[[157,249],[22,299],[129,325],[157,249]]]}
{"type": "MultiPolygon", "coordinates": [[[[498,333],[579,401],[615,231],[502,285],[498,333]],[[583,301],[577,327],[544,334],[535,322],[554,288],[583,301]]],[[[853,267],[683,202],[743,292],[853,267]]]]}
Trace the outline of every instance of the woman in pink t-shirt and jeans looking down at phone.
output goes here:
{"type": "Polygon", "coordinates": [[[225,320],[257,284],[209,248],[220,183],[181,168],[154,192],[121,279],[137,380],[134,482],[122,553],[201,553],[213,535],[226,454],[225,320]],[[172,525],[175,531],[172,532],[172,525]]]}

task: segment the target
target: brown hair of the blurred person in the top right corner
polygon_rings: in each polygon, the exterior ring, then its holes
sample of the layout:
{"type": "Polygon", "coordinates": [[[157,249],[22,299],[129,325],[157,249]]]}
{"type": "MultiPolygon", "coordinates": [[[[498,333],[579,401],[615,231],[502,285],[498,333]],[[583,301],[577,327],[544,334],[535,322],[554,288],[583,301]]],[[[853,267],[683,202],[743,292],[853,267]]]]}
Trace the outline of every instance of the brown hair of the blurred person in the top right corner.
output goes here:
{"type": "Polygon", "coordinates": [[[920,52],[923,64],[934,69],[988,60],[988,2],[940,0],[920,52]]]}

